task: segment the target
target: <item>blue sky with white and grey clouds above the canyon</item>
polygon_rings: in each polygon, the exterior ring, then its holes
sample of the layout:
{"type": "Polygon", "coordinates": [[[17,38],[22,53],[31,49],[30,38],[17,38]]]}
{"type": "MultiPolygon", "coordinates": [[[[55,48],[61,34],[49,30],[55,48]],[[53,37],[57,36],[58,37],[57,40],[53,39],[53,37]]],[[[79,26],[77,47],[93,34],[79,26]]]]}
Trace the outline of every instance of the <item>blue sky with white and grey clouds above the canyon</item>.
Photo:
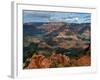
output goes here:
{"type": "Polygon", "coordinates": [[[91,13],[24,10],[23,22],[90,23],[91,13]]]}

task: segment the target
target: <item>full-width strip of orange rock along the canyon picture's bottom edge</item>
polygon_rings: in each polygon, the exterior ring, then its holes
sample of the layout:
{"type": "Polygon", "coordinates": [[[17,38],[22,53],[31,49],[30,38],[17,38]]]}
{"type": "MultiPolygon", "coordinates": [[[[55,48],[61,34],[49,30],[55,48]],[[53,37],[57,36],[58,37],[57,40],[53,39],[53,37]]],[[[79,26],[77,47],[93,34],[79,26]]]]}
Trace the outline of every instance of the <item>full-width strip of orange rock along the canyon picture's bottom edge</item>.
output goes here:
{"type": "Polygon", "coordinates": [[[81,55],[79,58],[69,57],[62,54],[53,53],[51,56],[44,56],[43,54],[34,54],[30,59],[24,63],[24,69],[36,68],[60,68],[60,67],[77,67],[90,66],[90,55],[81,55]]]}

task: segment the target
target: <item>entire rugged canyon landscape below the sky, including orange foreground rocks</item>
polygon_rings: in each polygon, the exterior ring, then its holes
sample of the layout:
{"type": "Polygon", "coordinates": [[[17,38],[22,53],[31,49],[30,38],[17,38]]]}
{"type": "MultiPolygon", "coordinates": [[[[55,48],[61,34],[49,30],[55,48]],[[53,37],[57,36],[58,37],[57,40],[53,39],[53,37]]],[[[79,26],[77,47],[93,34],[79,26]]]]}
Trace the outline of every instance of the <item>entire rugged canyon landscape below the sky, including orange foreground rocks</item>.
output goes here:
{"type": "Polygon", "coordinates": [[[91,66],[91,23],[23,24],[23,69],[91,66]]]}

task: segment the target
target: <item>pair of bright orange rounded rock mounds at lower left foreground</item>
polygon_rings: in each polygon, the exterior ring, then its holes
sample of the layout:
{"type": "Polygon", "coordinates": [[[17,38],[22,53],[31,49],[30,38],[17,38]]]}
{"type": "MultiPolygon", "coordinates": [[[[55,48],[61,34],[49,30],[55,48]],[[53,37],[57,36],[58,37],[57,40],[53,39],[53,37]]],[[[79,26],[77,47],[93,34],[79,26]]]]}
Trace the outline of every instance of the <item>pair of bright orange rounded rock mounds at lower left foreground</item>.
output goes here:
{"type": "Polygon", "coordinates": [[[33,68],[50,68],[50,67],[65,67],[70,65],[70,58],[62,54],[52,54],[50,57],[45,57],[42,54],[33,55],[27,69],[33,68]]]}

